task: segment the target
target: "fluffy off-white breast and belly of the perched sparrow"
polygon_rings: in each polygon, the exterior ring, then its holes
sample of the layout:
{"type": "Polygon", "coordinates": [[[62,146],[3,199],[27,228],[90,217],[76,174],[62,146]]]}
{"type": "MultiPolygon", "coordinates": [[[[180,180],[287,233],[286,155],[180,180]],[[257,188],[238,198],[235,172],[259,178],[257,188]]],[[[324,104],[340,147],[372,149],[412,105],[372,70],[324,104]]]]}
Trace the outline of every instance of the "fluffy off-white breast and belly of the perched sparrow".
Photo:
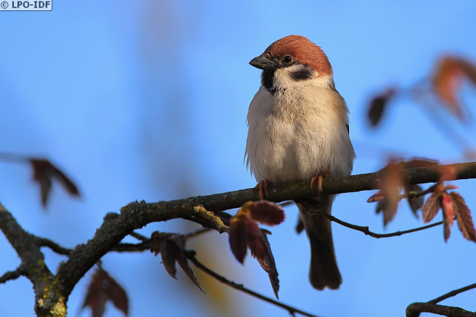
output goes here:
{"type": "Polygon", "coordinates": [[[347,108],[330,88],[332,81],[320,76],[281,83],[275,94],[259,88],[248,110],[245,153],[257,181],[310,181],[325,170],[335,177],[352,172],[347,108]]]}

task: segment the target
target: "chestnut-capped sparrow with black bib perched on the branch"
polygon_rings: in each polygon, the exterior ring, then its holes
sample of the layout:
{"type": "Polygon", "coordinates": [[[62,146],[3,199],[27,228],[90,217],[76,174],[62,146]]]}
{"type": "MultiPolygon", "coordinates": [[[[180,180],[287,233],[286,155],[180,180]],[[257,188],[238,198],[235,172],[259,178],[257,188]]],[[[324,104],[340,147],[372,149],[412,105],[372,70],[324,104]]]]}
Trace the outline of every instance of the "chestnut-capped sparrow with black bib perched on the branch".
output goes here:
{"type": "MultiPolygon", "coordinates": [[[[306,37],[289,35],[272,43],[250,61],[263,70],[261,87],[248,110],[246,167],[258,182],[260,197],[270,184],[318,181],[352,172],[355,152],[350,142],[348,108],[335,89],[326,54],[306,37]]],[[[295,203],[297,232],[306,229],[310,241],[310,284],[315,289],[339,289],[330,214],[335,195],[295,203]]]]}

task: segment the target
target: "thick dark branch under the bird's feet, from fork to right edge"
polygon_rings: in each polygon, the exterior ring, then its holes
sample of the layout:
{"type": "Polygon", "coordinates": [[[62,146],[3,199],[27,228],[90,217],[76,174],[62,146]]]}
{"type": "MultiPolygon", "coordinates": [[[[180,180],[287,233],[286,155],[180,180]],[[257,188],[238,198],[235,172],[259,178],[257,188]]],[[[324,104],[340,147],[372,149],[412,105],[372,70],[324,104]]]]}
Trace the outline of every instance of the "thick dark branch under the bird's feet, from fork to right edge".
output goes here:
{"type": "MultiPolygon", "coordinates": [[[[476,163],[453,164],[458,171],[457,179],[476,178],[476,163]]],[[[419,167],[406,170],[405,183],[434,183],[439,179],[439,167],[419,167]]],[[[376,179],[380,173],[360,174],[324,180],[324,194],[341,194],[377,189],[376,179]]],[[[308,182],[290,183],[273,186],[268,189],[270,201],[281,202],[295,198],[317,196],[317,188],[310,188],[308,182]]],[[[258,192],[253,189],[237,190],[223,194],[196,196],[158,203],[140,203],[135,201],[121,208],[121,214],[106,215],[105,221],[95,236],[86,243],[78,245],[69,260],[59,267],[58,275],[69,292],[78,280],[95,265],[113,246],[117,245],[133,230],[148,223],[168,221],[173,218],[190,218],[197,216],[196,206],[203,206],[208,211],[222,211],[237,208],[246,201],[259,200],[258,192]]]]}

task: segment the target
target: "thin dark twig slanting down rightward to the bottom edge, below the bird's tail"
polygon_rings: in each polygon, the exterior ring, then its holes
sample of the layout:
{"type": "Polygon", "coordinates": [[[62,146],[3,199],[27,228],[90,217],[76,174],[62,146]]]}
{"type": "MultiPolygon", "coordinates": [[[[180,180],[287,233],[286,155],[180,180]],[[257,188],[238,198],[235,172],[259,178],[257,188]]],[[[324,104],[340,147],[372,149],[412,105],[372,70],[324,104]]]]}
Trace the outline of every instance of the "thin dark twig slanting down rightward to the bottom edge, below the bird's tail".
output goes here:
{"type": "Polygon", "coordinates": [[[257,292],[253,292],[252,290],[247,289],[246,287],[244,287],[241,284],[237,284],[237,283],[233,282],[232,280],[228,280],[224,276],[221,276],[221,275],[217,274],[216,272],[212,271],[211,269],[209,269],[205,265],[201,264],[199,262],[199,260],[197,260],[197,258],[195,258],[195,255],[193,255],[193,253],[194,252],[187,252],[186,253],[186,256],[187,256],[188,260],[190,260],[190,262],[192,262],[195,265],[195,267],[197,267],[197,269],[201,269],[201,271],[208,274],[212,278],[215,278],[219,282],[224,283],[224,284],[226,284],[226,285],[228,285],[228,286],[230,286],[234,289],[238,289],[239,291],[244,292],[246,294],[250,294],[251,296],[255,296],[256,298],[264,300],[268,303],[271,303],[271,304],[276,305],[278,307],[284,308],[287,311],[289,311],[289,313],[291,315],[293,315],[295,313],[299,313],[301,315],[308,316],[308,317],[318,317],[317,315],[306,313],[306,311],[301,311],[300,309],[297,309],[295,307],[291,307],[289,305],[280,303],[277,300],[274,300],[272,298],[269,298],[269,297],[266,297],[264,295],[258,294],[257,292]]]}

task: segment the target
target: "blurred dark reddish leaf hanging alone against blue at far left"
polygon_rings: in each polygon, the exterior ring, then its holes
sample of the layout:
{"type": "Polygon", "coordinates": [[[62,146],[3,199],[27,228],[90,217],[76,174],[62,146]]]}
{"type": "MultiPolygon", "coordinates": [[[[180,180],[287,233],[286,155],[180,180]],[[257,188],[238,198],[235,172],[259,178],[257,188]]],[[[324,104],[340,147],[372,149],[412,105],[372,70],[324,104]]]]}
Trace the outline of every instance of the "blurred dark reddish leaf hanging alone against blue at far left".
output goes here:
{"type": "Polygon", "coordinates": [[[55,179],[72,196],[79,196],[79,190],[70,178],[61,170],[52,165],[50,161],[44,159],[30,159],[33,167],[33,179],[37,181],[41,188],[41,203],[46,207],[50,195],[51,183],[55,179]]]}

